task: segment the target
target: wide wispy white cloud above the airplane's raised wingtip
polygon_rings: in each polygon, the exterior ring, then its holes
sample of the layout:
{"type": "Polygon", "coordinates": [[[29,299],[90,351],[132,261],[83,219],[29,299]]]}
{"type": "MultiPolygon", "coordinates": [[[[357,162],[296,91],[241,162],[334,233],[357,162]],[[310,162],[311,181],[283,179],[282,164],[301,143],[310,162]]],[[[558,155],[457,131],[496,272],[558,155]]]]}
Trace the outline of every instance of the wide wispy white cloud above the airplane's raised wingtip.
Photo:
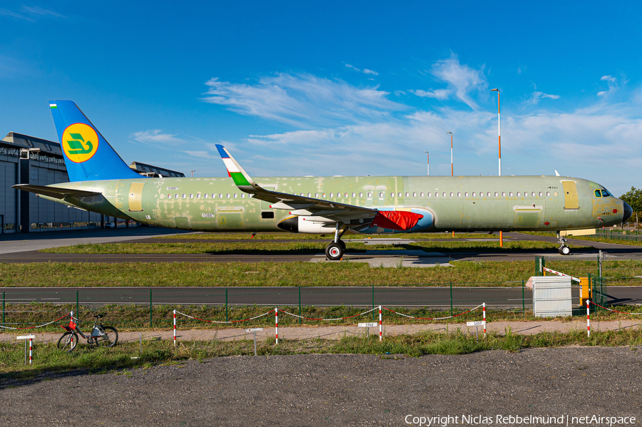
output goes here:
{"type": "Polygon", "coordinates": [[[203,101],[297,127],[359,123],[389,117],[407,107],[389,101],[377,86],[357,88],[345,81],[311,74],[280,73],[255,84],[230,83],[212,78],[203,101]]]}

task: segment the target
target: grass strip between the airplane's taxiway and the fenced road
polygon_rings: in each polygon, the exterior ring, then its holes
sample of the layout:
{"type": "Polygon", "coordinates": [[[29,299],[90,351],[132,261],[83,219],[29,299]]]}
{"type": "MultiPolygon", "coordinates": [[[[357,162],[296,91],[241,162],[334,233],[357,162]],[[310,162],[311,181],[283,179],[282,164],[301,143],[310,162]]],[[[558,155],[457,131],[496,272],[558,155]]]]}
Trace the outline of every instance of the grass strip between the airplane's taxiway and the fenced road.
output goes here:
{"type": "MultiPolygon", "coordinates": [[[[369,267],[361,262],[90,262],[0,263],[0,287],[227,287],[227,286],[521,286],[534,261],[452,262],[453,267],[369,267]]],[[[596,260],[547,261],[546,267],[586,277],[596,260]]],[[[642,261],[605,261],[608,284],[641,284],[642,261]],[[611,270],[613,269],[613,270],[611,270]],[[632,277],[633,279],[622,279],[632,277]]]]}

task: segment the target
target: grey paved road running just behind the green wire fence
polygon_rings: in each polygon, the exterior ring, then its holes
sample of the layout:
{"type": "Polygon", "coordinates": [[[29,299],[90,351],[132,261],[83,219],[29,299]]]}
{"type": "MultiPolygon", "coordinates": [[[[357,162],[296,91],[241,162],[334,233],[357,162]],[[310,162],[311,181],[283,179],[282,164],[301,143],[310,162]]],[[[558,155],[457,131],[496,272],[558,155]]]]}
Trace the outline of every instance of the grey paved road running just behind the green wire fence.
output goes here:
{"type": "MultiPolygon", "coordinates": [[[[264,305],[267,307],[359,306],[372,307],[450,307],[449,287],[113,287],[113,288],[0,288],[7,304],[11,302],[78,303],[100,307],[103,304],[193,304],[264,305]]],[[[608,287],[609,304],[642,304],[642,287],[608,287]]],[[[475,307],[485,302],[502,309],[532,307],[530,289],[452,288],[453,307],[475,307]],[[522,304],[522,300],[524,304],[522,304]]],[[[572,304],[579,304],[578,288],[572,288],[572,304]]]]}

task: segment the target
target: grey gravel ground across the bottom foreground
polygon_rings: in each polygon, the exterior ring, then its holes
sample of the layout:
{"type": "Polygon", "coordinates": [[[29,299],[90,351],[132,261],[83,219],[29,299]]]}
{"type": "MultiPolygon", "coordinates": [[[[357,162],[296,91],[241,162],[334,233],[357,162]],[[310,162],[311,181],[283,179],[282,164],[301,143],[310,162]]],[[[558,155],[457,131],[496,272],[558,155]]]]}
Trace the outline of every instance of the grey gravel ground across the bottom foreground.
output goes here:
{"type": "MultiPolygon", "coordinates": [[[[459,425],[478,425],[462,424],[462,415],[496,424],[497,415],[593,414],[639,422],[641,373],[642,348],[629,347],[419,358],[235,356],[26,382],[5,378],[0,425],[409,426],[408,415],[458,416],[459,425]]],[[[569,426],[588,425],[571,420],[569,426]]]]}

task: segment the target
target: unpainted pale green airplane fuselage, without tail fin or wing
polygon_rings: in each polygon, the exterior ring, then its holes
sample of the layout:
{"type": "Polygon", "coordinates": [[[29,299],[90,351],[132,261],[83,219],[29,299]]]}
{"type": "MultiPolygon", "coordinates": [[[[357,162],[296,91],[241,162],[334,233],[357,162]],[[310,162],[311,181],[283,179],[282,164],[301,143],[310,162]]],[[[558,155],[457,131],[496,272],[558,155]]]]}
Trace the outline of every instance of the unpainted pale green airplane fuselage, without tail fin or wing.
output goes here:
{"type": "MultiPolygon", "coordinates": [[[[576,230],[622,222],[623,202],[601,185],[559,176],[255,178],[267,190],[379,210],[429,212],[409,231],[576,230]],[[575,189],[575,193],[574,193],[575,189]]],[[[281,231],[287,210],[241,192],[231,178],[141,178],[51,185],[101,192],[66,204],[150,225],[205,232],[281,231]]],[[[61,202],[51,197],[49,200],[61,202]]],[[[392,232],[372,227],[364,232],[392,232]]]]}

